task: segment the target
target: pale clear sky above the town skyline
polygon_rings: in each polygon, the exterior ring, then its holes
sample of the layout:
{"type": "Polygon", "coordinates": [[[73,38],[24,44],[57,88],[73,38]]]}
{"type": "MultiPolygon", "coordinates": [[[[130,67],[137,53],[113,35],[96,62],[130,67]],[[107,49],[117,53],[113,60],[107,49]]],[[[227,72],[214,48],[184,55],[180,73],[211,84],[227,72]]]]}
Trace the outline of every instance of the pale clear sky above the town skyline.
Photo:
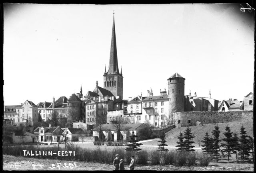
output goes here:
{"type": "Polygon", "coordinates": [[[4,105],[93,91],[108,70],[113,10],[123,98],[168,90],[243,100],[254,92],[254,14],[240,4],[4,4],[4,105]]]}

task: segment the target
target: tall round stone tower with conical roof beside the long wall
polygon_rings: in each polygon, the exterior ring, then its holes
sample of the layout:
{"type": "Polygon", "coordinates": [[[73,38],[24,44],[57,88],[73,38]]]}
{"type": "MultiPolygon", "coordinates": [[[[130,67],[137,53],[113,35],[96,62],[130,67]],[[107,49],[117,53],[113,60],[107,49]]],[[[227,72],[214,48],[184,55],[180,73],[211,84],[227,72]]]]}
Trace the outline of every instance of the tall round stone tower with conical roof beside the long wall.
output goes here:
{"type": "Polygon", "coordinates": [[[174,112],[184,112],[185,78],[174,73],[168,80],[169,117],[173,120],[174,112]]]}

